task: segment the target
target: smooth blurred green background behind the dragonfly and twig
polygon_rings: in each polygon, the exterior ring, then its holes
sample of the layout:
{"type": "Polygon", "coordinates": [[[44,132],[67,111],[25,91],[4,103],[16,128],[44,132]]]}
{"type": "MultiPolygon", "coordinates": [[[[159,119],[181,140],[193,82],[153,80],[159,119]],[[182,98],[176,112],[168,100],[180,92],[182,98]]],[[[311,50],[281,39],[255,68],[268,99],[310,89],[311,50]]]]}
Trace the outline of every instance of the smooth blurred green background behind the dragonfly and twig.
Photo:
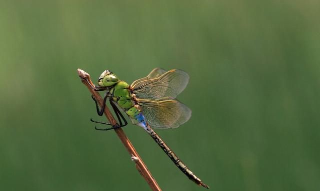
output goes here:
{"type": "MultiPolygon", "coordinates": [[[[0,190],[149,190],[76,69],[190,75],[158,134],[212,191],[320,190],[320,1],[0,1],[0,190]]],[[[163,191],[204,190],[139,127],[163,191]]]]}

